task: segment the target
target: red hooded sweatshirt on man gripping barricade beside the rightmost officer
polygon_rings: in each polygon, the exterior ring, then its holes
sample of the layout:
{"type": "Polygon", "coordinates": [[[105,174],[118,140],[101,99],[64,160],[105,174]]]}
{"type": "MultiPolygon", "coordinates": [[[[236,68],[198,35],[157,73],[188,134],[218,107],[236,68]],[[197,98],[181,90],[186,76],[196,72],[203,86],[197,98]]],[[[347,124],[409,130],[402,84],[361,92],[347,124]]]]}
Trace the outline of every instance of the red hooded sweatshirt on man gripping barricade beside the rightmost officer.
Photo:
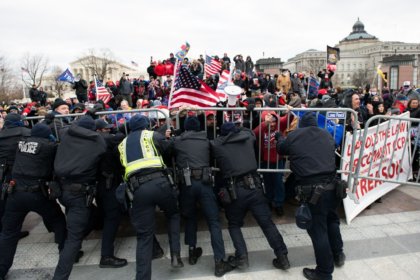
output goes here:
{"type": "MultiPolygon", "coordinates": [[[[265,116],[270,113],[271,115],[273,115],[273,117],[277,118],[277,121],[280,121],[280,131],[281,133],[283,133],[285,130],[287,130],[287,115],[284,117],[281,117],[280,120],[278,120],[278,115],[276,114],[276,112],[274,111],[263,111],[262,112],[262,121],[261,121],[261,134],[262,134],[262,139],[261,139],[261,160],[264,162],[270,162],[270,163],[274,163],[277,162],[277,158],[278,160],[283,160],[282,156],[277,154],[277,150],[276,150],[276,144],[277,144],[277,140],[276,140],[276,132],[277,132],[277,126],[278,124],[276,123],[276,128],[274,129],[274,131],[270,131],[270,139],[268,139],[268,126],[265,125],[265,116]],[[268,143],[270,143],[270,159],[268,159],[268,143]]],[[[290,114],[289,117],[289,123],[292,122],[294,116],[292,114],[290,114]]],[[[257,136],[257,146],[260,144],[260,126],[258,126],[257,128],[254,129],[254,133],[255,136],[257,136]]]]}

